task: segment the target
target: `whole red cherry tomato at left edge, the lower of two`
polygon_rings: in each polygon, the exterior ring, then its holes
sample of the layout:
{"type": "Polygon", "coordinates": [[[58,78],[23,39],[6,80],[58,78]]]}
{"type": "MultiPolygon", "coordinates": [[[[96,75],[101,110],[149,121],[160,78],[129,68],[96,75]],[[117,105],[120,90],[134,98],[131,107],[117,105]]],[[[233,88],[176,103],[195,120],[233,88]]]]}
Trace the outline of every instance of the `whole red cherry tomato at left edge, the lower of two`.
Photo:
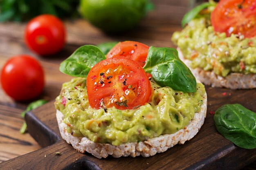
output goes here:
{"type": "Polygon", "coordinates": [[[15,100],[33,99],[43,91],[43,68],[29,55],[17,55],[4,64],[1,84],[5,93],[15,100]]]}

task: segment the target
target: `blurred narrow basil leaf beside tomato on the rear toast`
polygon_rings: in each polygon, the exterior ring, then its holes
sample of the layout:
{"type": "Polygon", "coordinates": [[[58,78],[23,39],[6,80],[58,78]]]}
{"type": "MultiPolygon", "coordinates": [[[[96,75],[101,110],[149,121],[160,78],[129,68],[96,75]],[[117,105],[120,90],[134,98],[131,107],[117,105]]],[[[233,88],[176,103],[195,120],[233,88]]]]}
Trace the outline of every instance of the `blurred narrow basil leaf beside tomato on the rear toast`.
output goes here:
{"type": "Polygon", "coordinates": [[[187,12],[182,21],[181,21],[181,26],[184,27],[185,24],[189,23],[189,21],[193,20],[196,15],[198,15],[198,13],[200,13],[200,11],[202,11],[204,8],[207,8],[209,6],[211,6],[213,4],[209,3],[209,2],[204,2],[198,6],[196,6],[195,8],[191,9],[189,12],[187,12]]]}

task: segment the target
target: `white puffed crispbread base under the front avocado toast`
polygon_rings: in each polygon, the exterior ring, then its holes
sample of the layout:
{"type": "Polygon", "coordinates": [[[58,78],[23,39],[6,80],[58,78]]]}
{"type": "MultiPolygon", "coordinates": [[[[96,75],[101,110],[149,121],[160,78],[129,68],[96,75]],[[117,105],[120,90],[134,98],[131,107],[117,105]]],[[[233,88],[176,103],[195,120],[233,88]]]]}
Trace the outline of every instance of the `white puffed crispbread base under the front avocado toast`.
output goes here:
{"type": "Polygon", "coordinates": [[[204,123],[207,111],[207,94],[203,95],[203,104],[198,113],[195,113],[194,119],[192,119],[187,126],[183,129],[167,135],[160,135],[146,141],[129,142],[121,144],[119,146],[113,146],[111,144],[94,143],[87,137],[74,137],[67,132],[67,125],[63,122],[63,114],[57,110],[56,117],[58,121],[58,127],[61,132],[61,137],[71,144],[74,149],[81,153],[91,153],[97,158],[106,158],[108,155],[112,157],[136,157],[142,155],[143,157],[153,156],[156,153],[164,152],[168,148],[173,147],[176,144],[184,144],[185,141],[190,140],[200,130],[204,123]]]}

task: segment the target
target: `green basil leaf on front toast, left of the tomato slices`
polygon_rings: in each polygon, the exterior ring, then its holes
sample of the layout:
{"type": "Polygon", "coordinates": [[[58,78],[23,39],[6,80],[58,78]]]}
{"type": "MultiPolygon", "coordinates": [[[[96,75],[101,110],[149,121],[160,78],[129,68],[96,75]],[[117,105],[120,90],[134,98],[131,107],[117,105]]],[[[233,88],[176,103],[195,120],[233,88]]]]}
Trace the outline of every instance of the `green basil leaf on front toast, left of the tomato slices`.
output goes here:
{"type": "Polygon", "coordinates": [[[81,46],[70,57],[61,62],[60,71],[74,77],[87,77],[90,69],[105,59],[105,55],[97,46],[81,46]]]}

